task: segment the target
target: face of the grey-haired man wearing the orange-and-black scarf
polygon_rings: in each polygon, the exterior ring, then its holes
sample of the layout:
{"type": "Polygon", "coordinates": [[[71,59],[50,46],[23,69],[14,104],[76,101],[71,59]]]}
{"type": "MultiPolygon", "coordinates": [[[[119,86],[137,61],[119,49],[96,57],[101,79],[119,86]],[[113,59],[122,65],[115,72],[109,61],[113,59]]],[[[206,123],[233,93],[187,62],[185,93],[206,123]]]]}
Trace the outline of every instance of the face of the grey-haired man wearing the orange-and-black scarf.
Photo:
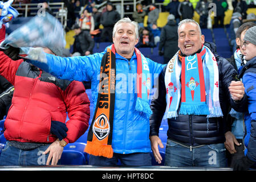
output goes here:
{"type": "Polygon", "coordinates": [[[113,43],[119,55],[125,58],[131,58],[138,41],[139,39],[136,38],[135,26],[133,24],[120,23],[116,26],[113,43]]]}

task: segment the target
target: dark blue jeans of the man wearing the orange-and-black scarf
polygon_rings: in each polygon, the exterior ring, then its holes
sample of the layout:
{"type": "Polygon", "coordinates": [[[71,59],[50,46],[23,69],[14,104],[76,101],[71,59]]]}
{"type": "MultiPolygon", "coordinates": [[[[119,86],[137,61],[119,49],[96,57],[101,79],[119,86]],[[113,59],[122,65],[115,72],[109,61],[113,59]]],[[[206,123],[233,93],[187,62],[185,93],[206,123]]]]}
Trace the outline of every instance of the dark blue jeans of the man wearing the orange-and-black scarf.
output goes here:
{"type": "Polygon", "coordinates": [[[113,154],[113,158],[108,159],[103,156],[90,155],[89,165],[92,166],[151,166],[150,153],[133,154],[113,154]]]}

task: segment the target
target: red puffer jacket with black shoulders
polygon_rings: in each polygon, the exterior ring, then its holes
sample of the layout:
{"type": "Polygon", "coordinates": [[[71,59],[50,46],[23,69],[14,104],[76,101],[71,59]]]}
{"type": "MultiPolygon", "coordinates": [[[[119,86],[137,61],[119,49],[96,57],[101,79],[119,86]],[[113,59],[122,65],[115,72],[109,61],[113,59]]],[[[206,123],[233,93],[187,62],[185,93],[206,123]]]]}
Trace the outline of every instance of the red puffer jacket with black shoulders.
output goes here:
{"type": "Polygon", "coordinates": [[[79,81],[60,80],[27,63],[13,61],[0,51],[0,75],[14,85],[5,121],[5,138],[19,142],[51,143],[51,121],[70,118],[66,142],[75,142],[88,128],[90,101],[79,81]]]}

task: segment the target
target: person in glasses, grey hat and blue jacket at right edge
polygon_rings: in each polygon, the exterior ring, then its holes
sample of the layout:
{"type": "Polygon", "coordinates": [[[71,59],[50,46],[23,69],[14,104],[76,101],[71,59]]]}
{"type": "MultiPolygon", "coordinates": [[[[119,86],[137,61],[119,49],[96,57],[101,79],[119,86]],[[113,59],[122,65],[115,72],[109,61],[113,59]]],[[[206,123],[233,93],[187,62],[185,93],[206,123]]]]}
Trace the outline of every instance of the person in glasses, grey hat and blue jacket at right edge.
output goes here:
{"type": "Polygon", "coordinates": [[[248,110],[245,114],[245,137],[244,144],[246,147],[245,156],[235,161],[234,170],[247,170],[256,162],[256,26],[249,28],[243,38],[243,46],[245,49],[245,59],[247,63],[239,72],[245,84],[245,93],[248,100],[248,110]]]}

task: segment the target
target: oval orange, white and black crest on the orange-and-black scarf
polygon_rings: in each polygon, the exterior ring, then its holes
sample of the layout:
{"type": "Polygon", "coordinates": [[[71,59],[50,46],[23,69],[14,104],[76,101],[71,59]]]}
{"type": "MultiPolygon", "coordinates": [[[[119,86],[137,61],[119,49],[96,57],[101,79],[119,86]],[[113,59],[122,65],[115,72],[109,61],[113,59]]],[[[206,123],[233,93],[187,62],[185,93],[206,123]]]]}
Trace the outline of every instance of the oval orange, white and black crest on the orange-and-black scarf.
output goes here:
{"type": "Polygon", "coordinates": [[[110,132],[110,124],[105,114],[100,114],[95,119],[92,131],[99,140],[106,138],[110,132]]]}

